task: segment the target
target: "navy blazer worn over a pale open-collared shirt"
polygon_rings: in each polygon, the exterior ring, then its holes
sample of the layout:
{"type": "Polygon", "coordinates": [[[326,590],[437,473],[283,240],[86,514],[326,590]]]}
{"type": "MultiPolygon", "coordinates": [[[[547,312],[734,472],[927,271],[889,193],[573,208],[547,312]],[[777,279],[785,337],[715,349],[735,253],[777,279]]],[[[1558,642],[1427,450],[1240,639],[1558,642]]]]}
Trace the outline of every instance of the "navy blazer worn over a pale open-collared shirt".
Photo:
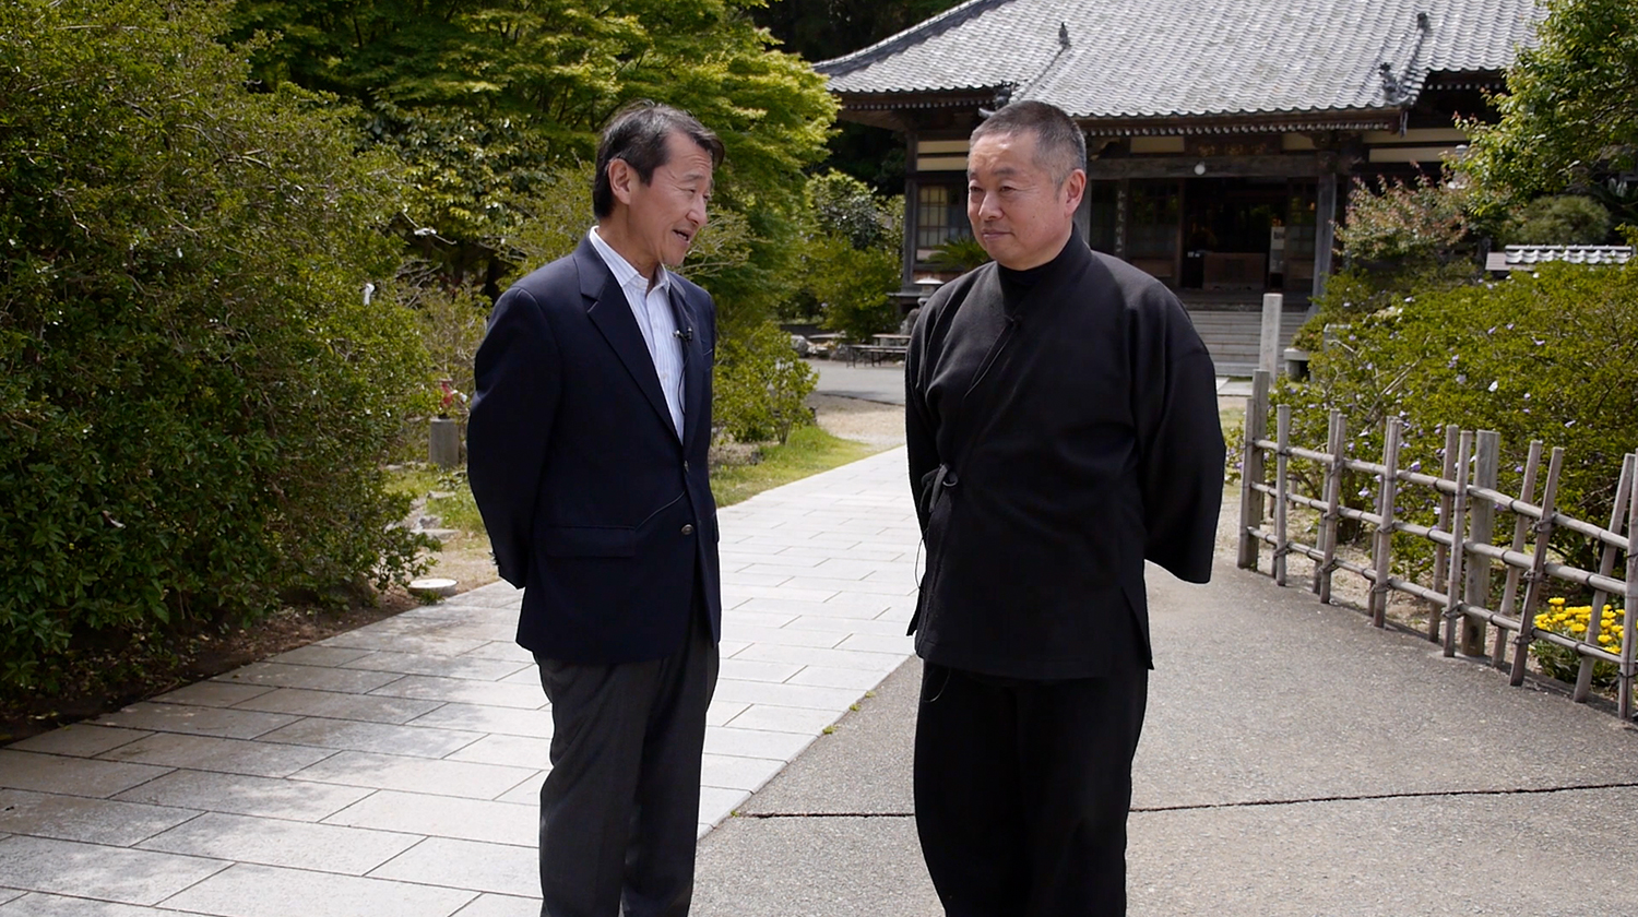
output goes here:
{"type": "Polygon", "coordinates": [[[518,642],[560,662],[681,648],[699,594],[721,635],[711,496],[716,306],[673,275],[683,436],[614,273],[588,239],[495,301],[477,355],[467,473],[501,578],[524,590],[518,642]]]}

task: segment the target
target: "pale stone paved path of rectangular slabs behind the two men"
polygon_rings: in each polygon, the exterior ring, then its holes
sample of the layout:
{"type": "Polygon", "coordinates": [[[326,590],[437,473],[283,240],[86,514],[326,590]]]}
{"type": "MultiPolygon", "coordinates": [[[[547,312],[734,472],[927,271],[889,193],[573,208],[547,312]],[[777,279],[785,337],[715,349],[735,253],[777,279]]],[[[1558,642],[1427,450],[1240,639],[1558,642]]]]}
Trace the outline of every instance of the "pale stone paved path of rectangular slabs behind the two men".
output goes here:
{"type": "MultiPolygon", "coordinates": [[[[721,513],[708,832],[909,653],[903,450],[721,513]]],[[[539,914],[552,716],[505,583],[0,750],[0,917],[539,914]]]]}

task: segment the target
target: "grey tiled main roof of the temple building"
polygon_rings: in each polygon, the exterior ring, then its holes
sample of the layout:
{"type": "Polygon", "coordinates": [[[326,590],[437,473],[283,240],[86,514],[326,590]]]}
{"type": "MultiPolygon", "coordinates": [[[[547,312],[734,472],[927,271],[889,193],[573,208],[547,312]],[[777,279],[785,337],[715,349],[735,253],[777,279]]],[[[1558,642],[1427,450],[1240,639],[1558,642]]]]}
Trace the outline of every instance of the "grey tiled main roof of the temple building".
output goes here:
{"type": "Polygon", "coordinates": [[[1505,69],[1541,15],[1532,0],[968,0],[816,69],[844,95],[1014,85],[1078,118],[1358,111],[1412,102],[1428,74],[1505,69]]]}

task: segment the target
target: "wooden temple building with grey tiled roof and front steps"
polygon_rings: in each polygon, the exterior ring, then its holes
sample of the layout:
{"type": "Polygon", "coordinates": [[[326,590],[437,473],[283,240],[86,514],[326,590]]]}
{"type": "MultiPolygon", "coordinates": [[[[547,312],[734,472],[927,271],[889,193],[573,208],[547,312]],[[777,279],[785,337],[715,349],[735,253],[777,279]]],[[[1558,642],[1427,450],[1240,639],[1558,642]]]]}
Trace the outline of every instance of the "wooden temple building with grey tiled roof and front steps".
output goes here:
{"type": "Polygon", "coordinates": [[[1050,102],[1086,131],[1083,237],[1191,311],[1304,309],[1355,178],[1459,156],[1533,41],[1532,0],[968,0],[816,66],[842,118],[907,146],[904,291],[971,233],[966,138],[1050,102]]]}

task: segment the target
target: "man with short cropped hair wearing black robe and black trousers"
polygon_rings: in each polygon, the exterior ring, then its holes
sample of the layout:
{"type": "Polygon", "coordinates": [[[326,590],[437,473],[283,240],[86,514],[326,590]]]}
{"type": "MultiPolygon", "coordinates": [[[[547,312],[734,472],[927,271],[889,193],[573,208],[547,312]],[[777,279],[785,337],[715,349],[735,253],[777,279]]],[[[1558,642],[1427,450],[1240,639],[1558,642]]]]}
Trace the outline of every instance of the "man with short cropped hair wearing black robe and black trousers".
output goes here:
{"type": "Polygon", "coordinates": [[[968,218],[994,262],[934,293],[906,362],[916,825],[952,917],[1125,914],[1143,560],[1212,570],[1212,360],[1161,283],[1075,231],[1084,162],[1050,105],[973,131],[968,218]]]}

